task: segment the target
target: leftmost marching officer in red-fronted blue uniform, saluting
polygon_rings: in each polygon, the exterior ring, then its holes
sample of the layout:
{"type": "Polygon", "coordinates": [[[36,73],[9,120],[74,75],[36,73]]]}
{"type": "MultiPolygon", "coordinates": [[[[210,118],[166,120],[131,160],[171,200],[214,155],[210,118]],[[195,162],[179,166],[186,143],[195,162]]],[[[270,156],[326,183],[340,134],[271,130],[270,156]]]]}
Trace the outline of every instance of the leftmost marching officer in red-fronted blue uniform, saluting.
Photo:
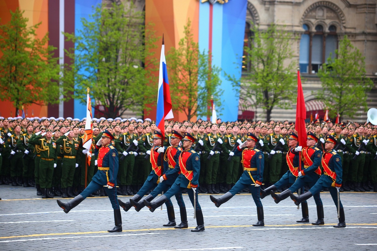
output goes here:
{"type": "Polygon", "coordinates": [[[116,195],[116,175],[118,175],[118,151],[112,146],[111,141],[114,140],[114,136],[107,131],[103,131],[101,139],[98,140],[95,154],[98,155],[98,171],[90,181],[89,185],[77,195],[71,199],[68,203],[63,203],[57,200],[59,207],[63,208],[65,213],[68,213],[72,208],[76,207],[87,196],[93,192],[104,187],[107,196],[109,196],[111,205],[114,209],[114,221],[115,227],[109,232],[121,232],[122,231],[122,216],[120,213],[120,207],[118,204],[118,197],[116,195]]]}

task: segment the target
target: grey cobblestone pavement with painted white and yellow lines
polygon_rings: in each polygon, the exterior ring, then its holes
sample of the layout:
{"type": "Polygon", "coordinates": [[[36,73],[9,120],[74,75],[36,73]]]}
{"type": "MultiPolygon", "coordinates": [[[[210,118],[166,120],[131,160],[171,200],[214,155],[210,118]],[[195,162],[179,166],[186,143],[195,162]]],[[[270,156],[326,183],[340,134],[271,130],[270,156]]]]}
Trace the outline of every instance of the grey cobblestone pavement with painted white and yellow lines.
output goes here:
{"type": "MultiPolygon", "coordinates": [[[[216,195],[218,197],[220,195],[216,195]]],[[[162,227],[166,208],[151,213],[148,208],[122,211],[123,232],[108,233],[114,225],[107,197],[87,198],[65,214],[55,199],[40,199],[35,188],[0,186],[0,250],[377,250],[377,193],[344,192],[346,228],[336,229],[337,211],[328,192],[321,193],[325,225],[299,224],[301,210],[290,198],[275,204],[262,200],[265,226],[257,221],[250,194],[241,193],[220,208],[209,195],[200,194],[205,231],[196,227],[190,200],[184,195],[188,229],[162,227]]],[[[119,196],[126,201],[130,196],[119,196]]],[[[60,198],[61,199],[61,198],[60,198]]],[[[179,208],[175,207],[177,224],[179,208]]],[[[63,199],[67,202],[69,199],[63,199]]],[[[308,200],[310,222],[317,219],[313,198],[308,200]]]]}

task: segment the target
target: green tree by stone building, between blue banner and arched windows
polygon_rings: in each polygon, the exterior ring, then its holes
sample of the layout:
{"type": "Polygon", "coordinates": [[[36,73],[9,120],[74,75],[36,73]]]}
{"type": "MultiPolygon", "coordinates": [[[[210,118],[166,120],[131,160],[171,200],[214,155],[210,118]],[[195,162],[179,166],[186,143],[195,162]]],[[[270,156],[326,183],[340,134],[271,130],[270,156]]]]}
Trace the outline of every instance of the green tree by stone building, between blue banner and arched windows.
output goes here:
{"type": "Polygon", "coordinates": [[[267,30],[255,26],[251,31],[251,47],[244,48],[250,72],[242,79],[228,78],[234,88],[241,88],[241,97],[248,105],[264,109],[269,121],[275,106],[289,108],[296,100],[296,95],[292,95],[297,88],[291,49],[294,37],[285,26],[278,28],[274,23],[267,30]]]}

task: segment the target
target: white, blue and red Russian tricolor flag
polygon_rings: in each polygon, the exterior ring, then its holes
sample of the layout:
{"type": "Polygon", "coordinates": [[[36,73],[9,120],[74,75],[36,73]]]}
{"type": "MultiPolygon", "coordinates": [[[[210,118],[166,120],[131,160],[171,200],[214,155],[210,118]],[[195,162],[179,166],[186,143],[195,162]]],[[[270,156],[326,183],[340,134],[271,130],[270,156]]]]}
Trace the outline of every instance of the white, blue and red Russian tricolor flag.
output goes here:
{"type": "Polygon", "coordinates": [[[162,135],[165,135],[165,119],[172,119],[173,117],[174,116],[172,110],[172,99],[170,98],[169,80],[167,78],[167,68],[165,60],[164,35],[162,35],[156,113],[156,125],[161,130],[162,135]]]}

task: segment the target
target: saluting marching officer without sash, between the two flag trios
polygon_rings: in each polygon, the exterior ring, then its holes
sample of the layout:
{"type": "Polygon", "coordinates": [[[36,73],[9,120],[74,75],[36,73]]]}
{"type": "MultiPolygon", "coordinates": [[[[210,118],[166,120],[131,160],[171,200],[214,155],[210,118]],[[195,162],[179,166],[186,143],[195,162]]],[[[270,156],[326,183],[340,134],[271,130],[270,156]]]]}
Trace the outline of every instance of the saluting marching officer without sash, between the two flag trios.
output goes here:
{"type": "Polygon", "coordinates": [[[255,148],[259,139],[251,132],[247,133],[246,141],[239,145],[234,151],[234,156],[242,156],[242,166],[244,172],[237,183],[229,190],[229,192],[216,199],[210,195],[210,199],[215,203],[216,207],[230,200],[235,194],[245,188],[249,188],[253,196],[255,205],[257,206],[258,222],[253,224],[255,227],[264,226],[264,213],[261,198],[259,196],[260,187],[263,181],[264,155],[263,152],[255,148]],[[246,147],[246,148],[244,148],[246,147]],[[244,149],[242,149],[244,148],[244,149]]]}

